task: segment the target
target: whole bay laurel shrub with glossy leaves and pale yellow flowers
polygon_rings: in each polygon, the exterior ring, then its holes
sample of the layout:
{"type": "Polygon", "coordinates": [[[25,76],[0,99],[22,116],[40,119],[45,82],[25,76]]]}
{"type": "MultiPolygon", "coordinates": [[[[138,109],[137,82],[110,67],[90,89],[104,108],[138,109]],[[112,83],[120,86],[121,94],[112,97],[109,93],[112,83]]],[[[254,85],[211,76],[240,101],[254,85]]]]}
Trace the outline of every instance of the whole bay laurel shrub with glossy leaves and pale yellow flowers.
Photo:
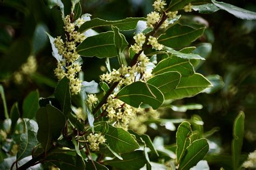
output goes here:
{"type": "MultiPolygon", "coordinates": [[[[17,103],[9,114],[0,86],[6,118],[1,126],[1,169],[209,169],[207,161],[217,160],[224,160],[227,169],[255,166],[253,153],[248,160],[241,155],[243,112],[234,121],[232,155],[225,157],[211,154],[207,138],[215,130],[204,132],[199,116],[161,118],[165,108],[201,109],[200,104],[172,103],[223,87],[220,76],[197,73],[211,52],[210,42],[190,46],[207,25],[181,13],[225,10],[256,19],[255,12],[214,0],[157,0],[146,18],[109,21],[82,14],[79,0],[63,2],[46,1],[59,10],[65,32],[57,37],[45,33],[56,59],[54,93],[42,98],[38,90],[31,91],[22,115],[17,103]],[[96,27],[110,31],[96,32],[96,27]],[[130,42],[126,31],[134,32],[130,42]],[[83,59],[92,56],[106,61],[106,72],[86,82],[83,59]],[[117,59],[119,68],[113,68],[110,58],[117,59]],[[173,145],[147,135],[149,126],[176,130],[174,123],[178,128],[173,145]]],[[[30,56],[15,73],[16,82],[37,65],[30,56]]]]}

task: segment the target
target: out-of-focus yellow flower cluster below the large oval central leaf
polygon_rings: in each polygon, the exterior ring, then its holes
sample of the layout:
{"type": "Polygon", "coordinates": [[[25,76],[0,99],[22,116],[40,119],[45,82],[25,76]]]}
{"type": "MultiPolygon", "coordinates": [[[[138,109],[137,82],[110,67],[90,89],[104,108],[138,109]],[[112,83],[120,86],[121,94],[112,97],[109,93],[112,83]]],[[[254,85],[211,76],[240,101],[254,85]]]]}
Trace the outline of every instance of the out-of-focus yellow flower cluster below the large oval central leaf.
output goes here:
{"type": "Polygon", "coordinates": [[[130,120],[129,129],[137,132],[138,134],[143,134],[147,131],[147,126],[145,122],[149,119],[158,119],[160,113],[157,110],[134,108],[135,116],[130,120]]]}

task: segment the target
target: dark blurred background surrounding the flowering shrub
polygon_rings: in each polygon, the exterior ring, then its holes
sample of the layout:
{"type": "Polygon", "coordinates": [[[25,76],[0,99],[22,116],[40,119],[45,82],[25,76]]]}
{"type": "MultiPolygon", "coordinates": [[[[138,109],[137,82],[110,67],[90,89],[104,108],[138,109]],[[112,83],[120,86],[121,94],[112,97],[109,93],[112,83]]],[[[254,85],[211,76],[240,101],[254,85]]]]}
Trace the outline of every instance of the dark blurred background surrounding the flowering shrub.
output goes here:
{"type": "MultiPolygon", "coordinates": [[[[90,13],[91,18],[107,20],[126,17],[146,17],[152,8],[151,0],[84,0],[80,1],[82,13],[90,13]]],[[[256,3],[251,1],[224,1],[244,9],[256,11],[256,3]]],[[[208,27],[203,37],[194,42],[211,42],[212,52],[197,72],[203,75],[218,74],[223,77],[225,86],[214,94],[199,94],[196,97],[176,101],[177,104],[200,103],[201,110],[186,113],[165,110],[165,118],[190,118],[200,115],[205,131],[214,127],[220,130],[211,137],[221,148],[222,153],[231,153],[232,128],[239,111],[245,112],[245,139],[242,152],[252,152],[256,146],[256,21],[241,20],[230,13],[219,10],[212,14],[198,12],[181,15],[200,16],[208,27]]],[[[10,111],[16,101],[22,106],[24,97],[32,90],[39,89],[41,97],[52,95],[57,80],[53,75],[56,60],[51,55],[51,45],[44,31],[56,37],[63,34],[63,23],[57,8],[49,9],[43,0],[2,0],[0,1],[0,83],[3,84],[6,102],[10,111]],[[14,81],[16,72],[26,62],[29,55],[35,55],[37,72],[25,76],[22,83],[14,81]]],[[[99,27],[98,32],[109,28],[99,27]]],[[[123,32],[128,42],[133,42],[133,32],[123,32]]],[[[83,71],[86,81],[99,81],[103,74],[105,60],[83,58],[83,71]]],[[[117,61],[111,59],[113,66],[117,61]]],[[[0,100],[0,118],[4,118],[0,100]]],[[[175,132],[161,131],[151,136],[167,136],[166,144],[175,141],[175,132]]]]}

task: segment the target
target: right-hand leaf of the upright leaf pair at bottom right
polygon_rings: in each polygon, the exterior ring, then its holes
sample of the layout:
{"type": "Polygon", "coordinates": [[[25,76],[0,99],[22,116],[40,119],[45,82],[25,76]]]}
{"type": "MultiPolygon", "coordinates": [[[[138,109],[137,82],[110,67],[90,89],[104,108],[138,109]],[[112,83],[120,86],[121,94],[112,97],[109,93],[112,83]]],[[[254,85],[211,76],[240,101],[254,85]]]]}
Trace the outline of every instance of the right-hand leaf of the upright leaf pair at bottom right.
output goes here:
{"type": "Polygon", "coordinates": [[[208,150],[209,145],[207,139],[203,138],[193,141],[193,143],[187,147],[186,153],[183,159],[181,159],[178,169],[190,169],[197,165],[197,163],[205,157],[208,150]]]}

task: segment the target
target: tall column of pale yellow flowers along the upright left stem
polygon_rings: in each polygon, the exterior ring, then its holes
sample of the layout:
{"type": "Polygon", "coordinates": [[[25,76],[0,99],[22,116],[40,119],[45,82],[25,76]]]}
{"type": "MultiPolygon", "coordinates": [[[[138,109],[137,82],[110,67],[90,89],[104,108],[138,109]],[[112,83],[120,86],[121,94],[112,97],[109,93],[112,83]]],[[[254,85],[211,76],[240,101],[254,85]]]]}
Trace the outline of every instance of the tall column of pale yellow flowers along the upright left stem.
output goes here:
{"type": "Polygon", "coordinates": [[[75,31],[75,24],[71,23],[69,15],[65,17],[64,24],[66,32],[65,42],[61,37],[57,37],[54,41],[58,53],[63,56],[63,60],[58,62],[55,69],[55,75],[59,81],[66,76],[70,80],[71,93],[78,94],[81,90],[82,81],[77,77],[81,66],[78,62],[80,55],[76,52],[76,45],[83,42],[85,36],[75,31]]]}

